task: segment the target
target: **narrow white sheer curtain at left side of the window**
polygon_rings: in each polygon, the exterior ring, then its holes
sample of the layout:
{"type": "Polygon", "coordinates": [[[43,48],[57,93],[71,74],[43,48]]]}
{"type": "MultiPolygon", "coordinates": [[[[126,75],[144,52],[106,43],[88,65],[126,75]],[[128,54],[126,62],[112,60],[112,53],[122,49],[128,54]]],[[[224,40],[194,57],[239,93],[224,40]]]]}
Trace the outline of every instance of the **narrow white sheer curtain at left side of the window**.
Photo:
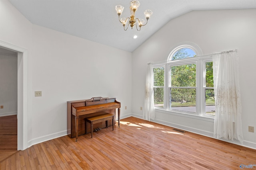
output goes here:
{"type": "Polygon", "coordinates": [[[152,63],[148,63],[148,71],[146,75],[146,91],[143,109],[143,119],[146,119],[148,121],[150,121],[150,119],[155,119],[153,76],[154,75],[152,63]]]}

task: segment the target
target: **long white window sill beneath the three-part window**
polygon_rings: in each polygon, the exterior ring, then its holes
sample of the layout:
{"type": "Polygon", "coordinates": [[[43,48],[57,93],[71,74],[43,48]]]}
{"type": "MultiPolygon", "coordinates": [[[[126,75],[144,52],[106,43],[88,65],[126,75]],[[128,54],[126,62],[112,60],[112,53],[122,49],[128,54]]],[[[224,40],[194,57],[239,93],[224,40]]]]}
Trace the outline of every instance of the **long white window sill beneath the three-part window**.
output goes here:
{"type": "Polygon", "coordinates": [[[155,107],[155,111],[160,112],[160,113],[166,113],[166,114],[171,114],[171,115],[188,117],[188,118],[192,118],[192,119],[199,119],[199,120],[203,120],[203,121],[214,122],[214,117],[193,115],[193,114],[188,114],[188,113],[180,113],[180,112],[177,112],[177,111],[165,110],[165,109],[160,109],[160,108],[156,108],[156,107],[155,107]]]}

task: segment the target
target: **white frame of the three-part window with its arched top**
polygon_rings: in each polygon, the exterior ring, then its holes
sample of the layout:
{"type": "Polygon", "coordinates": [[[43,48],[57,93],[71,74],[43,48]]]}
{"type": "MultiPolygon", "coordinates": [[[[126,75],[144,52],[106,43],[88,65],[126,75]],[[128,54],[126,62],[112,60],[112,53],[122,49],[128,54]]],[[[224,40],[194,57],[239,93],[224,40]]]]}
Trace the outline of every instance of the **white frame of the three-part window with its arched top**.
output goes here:
{"type": "Polygon", "coordinates": [[[171,113],[175,115],[183,115],[186,117],[200,117],[199,119],[205,119],[209,120],[208,118],[211,118],[210,121],[214,119],[214,116],[212,115],[206,115],[205,114],[205,89],[209,89],[210,87],[206,87],[205,83],[205,76],[206,76],[206,69],[205,69],[205,63],[212,61],[212,56],[202,56],[202,51],[200,48],[193,44],[193,43],[181,43],[178,46],[174,47],[171,51],[170,55],[168,56],[167,62],[160,62],[160,63],[153,63],[153,68],[158,67],[164,67],[164,107],[155,107],[157,111],[163,112],[163,113],[171,113]],[[187,59],[180,59],[180,60],[174,60],[171,61],[172,56],[180,49],[188,48],[195,51],[197,57],[187,58],[187,59]],[[190,64],[195,63],[196,64],[196,87],[193,87],[196,89],[196,113],[191,112],[185,112],[185,111],[178,111],[174,109],[170,109],[170,66],[175,65],[182,65],[182,64],[190,64]]]}

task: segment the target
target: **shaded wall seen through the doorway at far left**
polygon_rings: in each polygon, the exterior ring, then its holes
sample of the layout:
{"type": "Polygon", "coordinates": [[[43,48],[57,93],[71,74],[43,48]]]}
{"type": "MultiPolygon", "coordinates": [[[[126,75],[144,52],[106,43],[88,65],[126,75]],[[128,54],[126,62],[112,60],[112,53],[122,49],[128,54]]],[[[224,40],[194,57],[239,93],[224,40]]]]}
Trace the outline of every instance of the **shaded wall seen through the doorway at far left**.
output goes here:
{"type": "Polygon", "coordinates": [[[0,52],[0,116],[17,114],[18,54],[0,52]]]}

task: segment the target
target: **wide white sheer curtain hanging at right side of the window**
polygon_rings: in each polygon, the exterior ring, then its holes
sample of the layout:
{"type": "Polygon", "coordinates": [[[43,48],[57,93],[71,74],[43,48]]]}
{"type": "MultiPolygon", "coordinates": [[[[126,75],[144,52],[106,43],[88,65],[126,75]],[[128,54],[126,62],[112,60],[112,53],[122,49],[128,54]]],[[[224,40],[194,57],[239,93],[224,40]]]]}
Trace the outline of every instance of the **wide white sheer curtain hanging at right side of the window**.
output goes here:
{"type": "Polygon", "coordinates": [[[214,137],[243,143],[237,51],[213,55],[216,112],[214,137]]]}

